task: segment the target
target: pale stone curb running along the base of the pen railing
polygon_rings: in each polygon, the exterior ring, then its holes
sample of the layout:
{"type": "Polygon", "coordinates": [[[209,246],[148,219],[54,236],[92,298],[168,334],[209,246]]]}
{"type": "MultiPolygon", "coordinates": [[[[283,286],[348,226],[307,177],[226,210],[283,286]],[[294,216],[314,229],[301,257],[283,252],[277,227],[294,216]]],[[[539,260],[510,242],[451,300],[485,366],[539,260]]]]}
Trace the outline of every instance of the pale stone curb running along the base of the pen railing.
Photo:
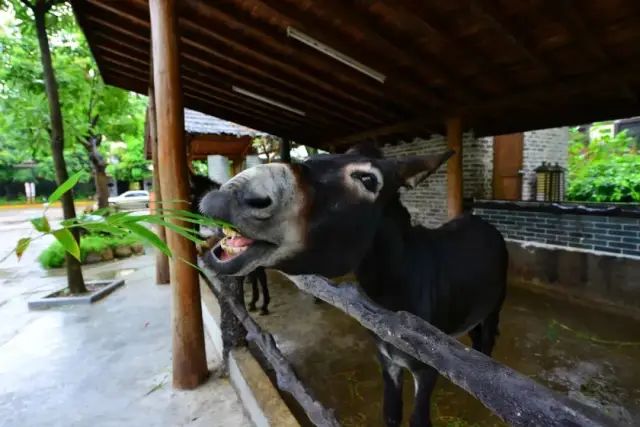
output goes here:
{"type": "MultiPolygon", "coordinates": [[[[222,358],[220,306],[213,292],[200,286],[204,328],[222,358]]],[[[300,427],[291,410],[273,386],[262,366],[246,348],[229,353],[229,380],[238,393],[253,425],[257,427],[300,427]]]]}

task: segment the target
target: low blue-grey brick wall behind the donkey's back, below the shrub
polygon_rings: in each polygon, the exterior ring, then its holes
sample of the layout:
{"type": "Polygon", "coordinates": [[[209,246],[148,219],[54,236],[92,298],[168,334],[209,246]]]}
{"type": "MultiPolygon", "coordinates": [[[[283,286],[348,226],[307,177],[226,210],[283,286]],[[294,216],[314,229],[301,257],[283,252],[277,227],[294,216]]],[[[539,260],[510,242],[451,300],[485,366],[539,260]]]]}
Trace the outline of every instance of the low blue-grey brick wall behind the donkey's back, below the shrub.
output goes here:
{"type": "Polygon", "coordinates": [[[640,257],[640,218],[493,208],[474,213],[507,239],[640,257]]]}

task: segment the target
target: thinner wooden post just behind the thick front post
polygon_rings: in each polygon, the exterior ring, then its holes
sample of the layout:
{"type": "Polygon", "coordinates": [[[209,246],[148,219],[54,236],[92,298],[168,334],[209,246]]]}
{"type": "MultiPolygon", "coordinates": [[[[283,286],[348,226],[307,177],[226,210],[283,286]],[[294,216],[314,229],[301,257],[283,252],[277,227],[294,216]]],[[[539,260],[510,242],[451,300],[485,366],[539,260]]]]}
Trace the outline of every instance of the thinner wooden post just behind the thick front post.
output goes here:
{"type": "MultiPolygon", "coordinates": [[[[158,161],[158,132],[156,126],[156,106],[155,95],[153,93],[153,73],[150,76],[149,85],[149,107],[147,109],[147,128],[149,144],[151,145],[151,157],[153,159],[153,195],[154,201],[152,213],[159,214],[162,208],[162,189],[160,186],[160,162],[158,161]]],[[[156,225],[156,234],[163,242],[167,241],[167,234],[164,226],[156,225]]],[[[168,285],[171,276],[169,275],[169,257],[160,251],[156,251],[156,284],[168,285]]]]}

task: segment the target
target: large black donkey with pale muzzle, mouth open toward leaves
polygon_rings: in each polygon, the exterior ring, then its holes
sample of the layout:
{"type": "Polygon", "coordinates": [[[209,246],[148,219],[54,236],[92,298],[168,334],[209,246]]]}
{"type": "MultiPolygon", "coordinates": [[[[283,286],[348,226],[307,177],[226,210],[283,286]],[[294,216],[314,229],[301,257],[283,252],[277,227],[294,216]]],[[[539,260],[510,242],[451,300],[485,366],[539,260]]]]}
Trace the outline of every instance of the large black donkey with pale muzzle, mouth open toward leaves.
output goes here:
{"type": "MultiPolygon", "coordinates": [[[[442,331],[469,333],[491,354],[505,297],[507,250],[500,233],[473,215],[437,229],[412,226],[400,187],[412,188],[452,152],[383,159],[378,151],[323,155],[301,164],[246,170],[207,194],[201,211],[224,219],[244,237],[229,257],[218,245],[207,257],[220,274],[256,267],[328,277],[355,272],[363,291],[390,310],[420,316],[442,331]]],[[[437,372],[376,339],[387,425],[402,420],[403,368],[415,383],[411,426],[430,426],[437,372]]]]}

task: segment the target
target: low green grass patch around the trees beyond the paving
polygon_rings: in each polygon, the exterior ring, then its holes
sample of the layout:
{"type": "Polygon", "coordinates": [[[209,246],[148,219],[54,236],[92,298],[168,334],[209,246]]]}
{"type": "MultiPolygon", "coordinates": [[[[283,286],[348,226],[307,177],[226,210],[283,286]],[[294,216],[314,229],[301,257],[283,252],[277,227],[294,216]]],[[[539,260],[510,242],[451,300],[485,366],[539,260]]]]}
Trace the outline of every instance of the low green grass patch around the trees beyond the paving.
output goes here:
{"type": "MultiPolygon", "coordinates": [[[[80,239],[80,259],[82,262],[90,252],[102,252],[107,249],[115,249],[117,246],[131,246],[142,243],[142,240],[134,234],[125,236],[102,236],[89,234],[82,236],[80,239]]],[[[64,248],[57,240],[49,245],[38,256],[40,265],[45,269],[60,268],[64,265],[64,248]]]]}

